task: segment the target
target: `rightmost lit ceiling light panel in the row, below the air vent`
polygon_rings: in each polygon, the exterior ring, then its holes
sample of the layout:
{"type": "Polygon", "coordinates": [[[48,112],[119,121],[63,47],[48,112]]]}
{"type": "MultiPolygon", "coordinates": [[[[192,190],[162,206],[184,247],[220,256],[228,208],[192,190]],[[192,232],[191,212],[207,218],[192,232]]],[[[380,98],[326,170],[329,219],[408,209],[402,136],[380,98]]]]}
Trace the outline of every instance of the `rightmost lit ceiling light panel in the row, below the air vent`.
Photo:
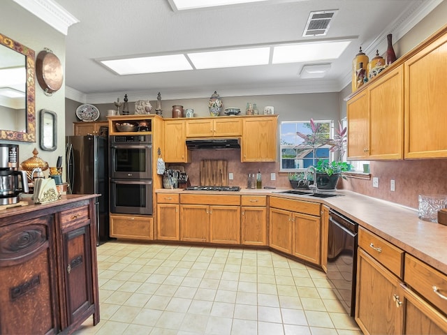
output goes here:
{"type": "Polygon", "coordinates": [[[350,40],[336,42],[302,43],[279,45],[273,49],[272,64],[302,63],[337,59],[348,47],[350,40]]]}

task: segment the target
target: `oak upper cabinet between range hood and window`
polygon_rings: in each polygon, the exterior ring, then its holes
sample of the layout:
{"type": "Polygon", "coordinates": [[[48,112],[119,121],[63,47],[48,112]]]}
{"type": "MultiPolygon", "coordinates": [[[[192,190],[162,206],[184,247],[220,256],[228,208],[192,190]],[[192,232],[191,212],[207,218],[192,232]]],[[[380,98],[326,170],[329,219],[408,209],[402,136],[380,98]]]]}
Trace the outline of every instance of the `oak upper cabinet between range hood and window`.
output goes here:
{"type": "Polygon", "coordinates": [[[241,161],[276,162],[278,117],[246,117],[242,127],[241,161]]]}

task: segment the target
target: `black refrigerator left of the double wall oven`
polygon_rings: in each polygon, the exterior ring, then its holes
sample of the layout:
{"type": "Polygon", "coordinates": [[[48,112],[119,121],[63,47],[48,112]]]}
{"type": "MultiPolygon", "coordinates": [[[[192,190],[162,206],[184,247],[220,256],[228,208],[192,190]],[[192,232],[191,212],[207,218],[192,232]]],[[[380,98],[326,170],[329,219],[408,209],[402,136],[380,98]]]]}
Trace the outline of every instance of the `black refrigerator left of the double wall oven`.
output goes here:
{"type": "Polygon", "coordinates": [[[66,178],[73,194],[101,194],[95,200],[96,244],[110,239],[108,136],[67,136],[66,178]]]}

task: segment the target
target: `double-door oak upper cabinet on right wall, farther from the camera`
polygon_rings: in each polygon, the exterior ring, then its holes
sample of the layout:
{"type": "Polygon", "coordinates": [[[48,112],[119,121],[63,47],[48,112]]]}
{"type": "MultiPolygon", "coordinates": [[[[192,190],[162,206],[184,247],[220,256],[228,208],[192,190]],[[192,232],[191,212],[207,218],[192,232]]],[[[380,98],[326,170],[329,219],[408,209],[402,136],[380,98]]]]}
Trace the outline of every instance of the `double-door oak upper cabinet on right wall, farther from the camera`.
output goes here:
{"type": "Polygon", "coordinates": [[[404,147],[402,66],[376,78],[347,105],[348,156],[357,160],[402,159],[404,147]]]}

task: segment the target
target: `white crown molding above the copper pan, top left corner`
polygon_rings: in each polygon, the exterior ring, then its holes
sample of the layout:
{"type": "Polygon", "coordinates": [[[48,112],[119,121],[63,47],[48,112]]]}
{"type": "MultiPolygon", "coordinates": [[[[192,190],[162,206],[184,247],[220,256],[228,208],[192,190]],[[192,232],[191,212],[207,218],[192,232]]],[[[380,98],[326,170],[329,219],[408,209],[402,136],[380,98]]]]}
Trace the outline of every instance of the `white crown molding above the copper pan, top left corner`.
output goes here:
{"type": "Polygon", "coordinates": [[[64,35],[79,20],[54,0],[13,0],[64,35]]]}

